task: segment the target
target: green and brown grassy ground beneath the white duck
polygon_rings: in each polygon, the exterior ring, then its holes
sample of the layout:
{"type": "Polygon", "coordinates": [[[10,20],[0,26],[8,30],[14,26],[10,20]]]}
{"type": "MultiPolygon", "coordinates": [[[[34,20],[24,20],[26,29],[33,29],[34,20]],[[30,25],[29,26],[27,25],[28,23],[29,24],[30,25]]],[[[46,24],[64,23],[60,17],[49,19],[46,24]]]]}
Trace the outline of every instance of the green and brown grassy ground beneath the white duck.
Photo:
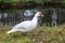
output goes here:
{"type": "Polygon", "coordinates": [[[34,31],[8,34],[11,26],[0,28],[0,43],[65,43],[65,25],[57,27],[38,26],[34,31]]]}

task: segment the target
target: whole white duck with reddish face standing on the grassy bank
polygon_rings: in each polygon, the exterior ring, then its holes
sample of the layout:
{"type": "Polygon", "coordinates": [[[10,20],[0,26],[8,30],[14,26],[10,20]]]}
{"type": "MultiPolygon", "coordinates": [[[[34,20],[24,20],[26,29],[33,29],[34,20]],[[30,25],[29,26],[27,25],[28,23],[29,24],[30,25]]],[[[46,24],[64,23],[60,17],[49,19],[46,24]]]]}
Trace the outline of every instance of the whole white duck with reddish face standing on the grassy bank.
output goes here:
{"type": "Polygon", "coordinates": [[[38,16],[43,16],[43,14],[41,12],[37,12],[31,20],[25,20],[15,25],[10,31],[8,31],[8,33],[16,31],[27,32],[34,30],[38,24],[38,16]]]}

